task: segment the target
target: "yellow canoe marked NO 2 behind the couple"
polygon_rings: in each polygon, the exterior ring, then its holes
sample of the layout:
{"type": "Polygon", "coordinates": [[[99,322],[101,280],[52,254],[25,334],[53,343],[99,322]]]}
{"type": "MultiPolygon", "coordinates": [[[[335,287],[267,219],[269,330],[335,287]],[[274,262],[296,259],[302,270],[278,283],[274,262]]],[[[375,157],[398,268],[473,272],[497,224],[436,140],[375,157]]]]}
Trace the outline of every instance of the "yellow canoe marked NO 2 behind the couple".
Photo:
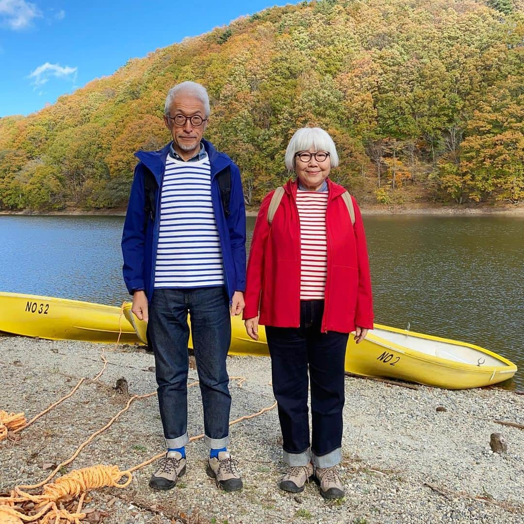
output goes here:
{"type": "MultiPolygon", "coordinates": [[[[124,304],[124,314],[146,341],[146,323],[124,304]]],[[[250,339],[244,323],[232,317],[230,355],[269,356],[264,326],[259,326],[259,340],[250,339]]],[[[192,340],[189,347],[193,347],[192,340]]],[[[345,370],[367,377],[407,380],[443,389],[478,388],[497,384],[515,375],[517,366],[483,347],[375,324],[366,339],[347,343],[345,370]]]]}

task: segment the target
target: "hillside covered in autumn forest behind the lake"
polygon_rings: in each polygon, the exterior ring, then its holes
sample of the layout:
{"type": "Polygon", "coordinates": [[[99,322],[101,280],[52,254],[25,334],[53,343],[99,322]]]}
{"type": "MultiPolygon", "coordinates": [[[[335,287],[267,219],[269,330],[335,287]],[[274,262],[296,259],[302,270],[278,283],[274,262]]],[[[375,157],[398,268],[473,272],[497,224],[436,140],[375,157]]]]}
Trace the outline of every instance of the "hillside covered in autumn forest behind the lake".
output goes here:
{"type": "Polygon", "coordinates": [[[522,0],[321,0],[272,7],[130,59],[27,117],[0,119],[0,210],[125,205],[168,89],[208,88],[206,138],[246,203],[288,177],[298,127],[333,136],[363,202],[524,200],[522,0]]]}

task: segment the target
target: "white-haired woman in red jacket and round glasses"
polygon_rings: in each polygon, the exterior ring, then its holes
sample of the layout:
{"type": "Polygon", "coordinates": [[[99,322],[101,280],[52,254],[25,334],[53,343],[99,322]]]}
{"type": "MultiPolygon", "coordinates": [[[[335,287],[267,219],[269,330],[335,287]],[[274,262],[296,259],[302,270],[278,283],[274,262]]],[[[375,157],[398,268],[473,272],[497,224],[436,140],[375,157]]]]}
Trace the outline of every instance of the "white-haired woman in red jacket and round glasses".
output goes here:
{"type": "Polygon", "coordinates": [[[283,460],[289,465],[280,489],[301,492],[314,476],[325,498],[344,496],[336,466],[348,336],[355,332],[358,344],[373,329],[364,226],[355,199],[328,178],[338,165],[333,140],[323,129],[305,127],[291,138],[286,166],[297,178],[280,190],[280,202],[272,191],[260,206],[244,309],[252,339],[258,339],[259,323],[266,326],[283,460]]]}

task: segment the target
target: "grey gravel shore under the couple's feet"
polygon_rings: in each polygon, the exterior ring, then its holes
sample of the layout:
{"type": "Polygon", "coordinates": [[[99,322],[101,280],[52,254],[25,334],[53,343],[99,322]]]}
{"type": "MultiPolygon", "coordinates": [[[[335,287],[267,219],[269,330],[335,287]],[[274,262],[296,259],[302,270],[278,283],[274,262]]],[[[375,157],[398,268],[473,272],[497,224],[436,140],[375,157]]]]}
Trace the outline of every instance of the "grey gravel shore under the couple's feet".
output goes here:
{"type": "MultiPolygon", "coordinates": [[[[69,399],[27,429],[0,442],[0,492],[46,478],[128,399],[113,389],[125,377],[130,395],[156,390],[154,358],[136,347],[0,336],[0,409],[30,419],[88,377],[69,399]],[[100,379],[101,351],[109,362],[100,379]]],[[[267,358],[230,357],[231,419],[274,403],[267,358]]],[[[196,380],[190,370],[190,381],[196,380]]],[[[189,432],[203,432],[200,390],[188,390],[189,432]]],[[[346,496],[326,501],[315,484],[298,495],[278,489],[285,471],[276,409],[231,427],[229,447],[244,477],[225,494],[205,474],[202,440],[187,446],[188,468],[176,488],[148,487],[156,464],[134,473],[125,489],[93,490],[85,507],[105,524],[188,522],[524,523],[524,432],[493,419],[524,424],[524,396],[501,389],[408,389],[346,378],[342,479],[346,496]],[[436,411],[443,406],[445,411],[436,411]],[[506,454],[493,453],[502,433],[506,454]]],[[[94,464],[126,470],[162,451],[156,396],[136,400],[85,447],[64,472],[94,464]]],[[[94,516],[92,516],[93,518],[94,516]]],[[[94,520],[96,521],[96,520],[94,520]]]]}

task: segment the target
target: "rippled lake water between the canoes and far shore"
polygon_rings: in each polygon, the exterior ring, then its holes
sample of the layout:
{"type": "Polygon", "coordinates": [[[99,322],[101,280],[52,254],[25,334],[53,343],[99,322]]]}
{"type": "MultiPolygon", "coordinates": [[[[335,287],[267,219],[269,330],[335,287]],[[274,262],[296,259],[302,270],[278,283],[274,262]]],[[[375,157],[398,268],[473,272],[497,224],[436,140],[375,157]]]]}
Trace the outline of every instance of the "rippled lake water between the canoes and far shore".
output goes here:
{"type": "MultiPolygon", "coordinates": [[[[121,305],[121,216],[0,216],[0,291],[121,305]]],[[[249,240],[255,223],[248,217],[249,240]]],[[[365,216],[375,320],[481,345],[524,386],[524,219],[365,216]]]]}

